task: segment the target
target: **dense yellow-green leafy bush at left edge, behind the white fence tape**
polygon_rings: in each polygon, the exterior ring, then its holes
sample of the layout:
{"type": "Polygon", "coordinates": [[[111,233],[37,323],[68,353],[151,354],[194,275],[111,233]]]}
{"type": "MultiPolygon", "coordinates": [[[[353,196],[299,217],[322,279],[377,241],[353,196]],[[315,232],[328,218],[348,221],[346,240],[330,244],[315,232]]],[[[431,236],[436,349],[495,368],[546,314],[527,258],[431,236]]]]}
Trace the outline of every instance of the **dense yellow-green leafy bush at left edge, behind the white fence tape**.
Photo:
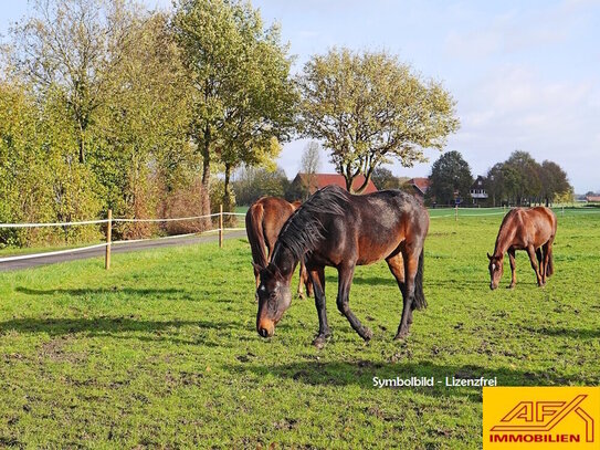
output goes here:
{"type": "MultiPolygon", "coordinates": [[[[60,94],[36,98],[34,87],[17,76],[0,82],[0,221],[73,221],[98,213],[95,178],[74,161],[73,129],[61,106],[60,94]]],[[[23,245],[94,234],[85,227],[2,230],[0,242],[23,245]]]]}

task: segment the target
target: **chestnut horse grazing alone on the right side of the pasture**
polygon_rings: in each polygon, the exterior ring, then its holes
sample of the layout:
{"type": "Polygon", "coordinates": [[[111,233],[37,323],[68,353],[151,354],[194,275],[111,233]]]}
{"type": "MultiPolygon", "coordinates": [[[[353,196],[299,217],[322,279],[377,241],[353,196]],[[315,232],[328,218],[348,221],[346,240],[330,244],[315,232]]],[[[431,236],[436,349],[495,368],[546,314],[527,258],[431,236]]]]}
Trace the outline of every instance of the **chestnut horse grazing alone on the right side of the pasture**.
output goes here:
{"type": "Polygon", "coordinates": [[[527,251],[531,268],[537,276],[538,286],[546,284],[547,276],[554,273],[552,242],[555,236],[556,216],[552,210],[545,207],[510,210],[502,221],[494,254],[487,253],[490,259],[490,289],[494,290],[498,286],[504,273],[504,253],[508,253],[513,275],[508,287],[515,286],[517,282],[515,272],[516,250],[527,251]]]}

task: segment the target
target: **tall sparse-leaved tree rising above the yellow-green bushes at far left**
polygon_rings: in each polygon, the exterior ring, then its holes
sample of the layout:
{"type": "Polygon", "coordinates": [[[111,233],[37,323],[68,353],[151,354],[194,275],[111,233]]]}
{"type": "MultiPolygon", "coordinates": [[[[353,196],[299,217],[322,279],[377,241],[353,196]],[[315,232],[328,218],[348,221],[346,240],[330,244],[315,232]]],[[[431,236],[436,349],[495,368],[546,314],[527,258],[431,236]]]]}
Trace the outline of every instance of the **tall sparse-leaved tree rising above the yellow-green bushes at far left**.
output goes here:
{"type": "Polygon", "coordinates": [[[133,8],[125,0],[35,0],[35,15],[12,29],[17,64],[41,93],[60,93],[73,121],[80,164],[107,76],[120,62],[133,8]]]}

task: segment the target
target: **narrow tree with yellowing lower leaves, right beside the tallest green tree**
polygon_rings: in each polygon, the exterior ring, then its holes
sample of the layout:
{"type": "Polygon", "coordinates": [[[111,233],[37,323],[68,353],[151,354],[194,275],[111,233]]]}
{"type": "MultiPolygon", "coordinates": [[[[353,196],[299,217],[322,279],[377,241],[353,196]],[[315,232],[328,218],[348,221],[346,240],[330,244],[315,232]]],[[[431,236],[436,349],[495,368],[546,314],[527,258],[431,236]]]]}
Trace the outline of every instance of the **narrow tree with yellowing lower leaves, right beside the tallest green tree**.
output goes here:
{"type": "Polygon", "coordinates": [[[275,169],[281,143],[294,129],[297,94],[290,77],[291,59],[280,30],[263,30],[261,17],[249,3],[238,6],[242,60],[235,73],[236,87],[223,93],[225,119],[219,132],[217,156],[224,166],[223,205],[231,209],[230,178],[241,164],[275,169]]]}

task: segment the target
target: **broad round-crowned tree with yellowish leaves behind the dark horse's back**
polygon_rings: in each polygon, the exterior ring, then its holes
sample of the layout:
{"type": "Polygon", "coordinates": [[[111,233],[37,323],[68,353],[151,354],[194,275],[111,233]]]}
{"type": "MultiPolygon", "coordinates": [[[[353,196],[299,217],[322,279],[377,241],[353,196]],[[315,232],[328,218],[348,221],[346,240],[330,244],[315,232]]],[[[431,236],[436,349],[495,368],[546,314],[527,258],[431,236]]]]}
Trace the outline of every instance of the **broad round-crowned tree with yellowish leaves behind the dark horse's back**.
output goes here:
{"type": "Polygon", "coordinates": [[[298,77],[301,132],[319,139],[351,190],[360,174],[393,159],[410,167],[427,158],[423,148],[442,149],[459,128],[454,101],[435,81],[423,81],[386,52],[333,49],[313,56],[298,77]]]}

